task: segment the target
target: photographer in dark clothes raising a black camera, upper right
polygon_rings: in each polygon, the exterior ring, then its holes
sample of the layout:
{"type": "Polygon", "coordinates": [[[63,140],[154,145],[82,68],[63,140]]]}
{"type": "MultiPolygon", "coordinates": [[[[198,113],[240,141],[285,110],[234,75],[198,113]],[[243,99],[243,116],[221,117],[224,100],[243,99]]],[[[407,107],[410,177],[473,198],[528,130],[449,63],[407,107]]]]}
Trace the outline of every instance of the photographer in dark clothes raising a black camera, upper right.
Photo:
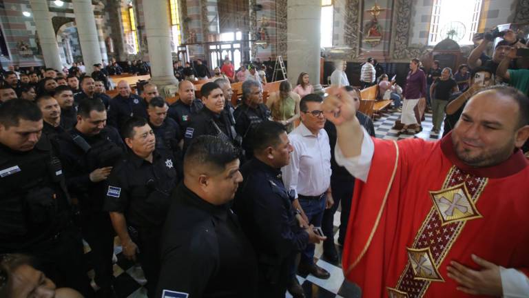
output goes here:
{"type": "Polygon", "coordinates": [[[476,43],[480,39],[481,43],[479,43],[479,46],[470,52],[470,56],[468,56],[468,66],[470,66],[470,68],[482,66],[490,69],[493,74],[496,73],[499,63],[506,56],[510,45],[518,42],[516,34],[512,32],[512,30],[499,32],[498,28],[495,28],[490,32],[475,34],[473,41],[476,43]],[[497,37],[502,37],[504,40],[497,43],[494,52],[492,52],[492,58],[490,58],[484,54],[484,52],[488,47],[488,43],[494,41],[497,37]]]}

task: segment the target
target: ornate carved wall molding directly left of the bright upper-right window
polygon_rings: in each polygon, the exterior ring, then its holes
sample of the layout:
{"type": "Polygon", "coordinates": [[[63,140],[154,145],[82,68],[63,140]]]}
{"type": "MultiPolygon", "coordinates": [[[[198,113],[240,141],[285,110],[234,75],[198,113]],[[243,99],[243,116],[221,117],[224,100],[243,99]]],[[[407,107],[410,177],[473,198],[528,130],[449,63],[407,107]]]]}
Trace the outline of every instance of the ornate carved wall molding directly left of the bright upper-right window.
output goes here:
{"type": "Polygon", "coordinates": [[[420,58],[426,53],[426,46],[410,45],[411,12],[413,0],[397,0],[393,10],[393,34],[391,34],[391,57],[396,60],[420,58]]]}

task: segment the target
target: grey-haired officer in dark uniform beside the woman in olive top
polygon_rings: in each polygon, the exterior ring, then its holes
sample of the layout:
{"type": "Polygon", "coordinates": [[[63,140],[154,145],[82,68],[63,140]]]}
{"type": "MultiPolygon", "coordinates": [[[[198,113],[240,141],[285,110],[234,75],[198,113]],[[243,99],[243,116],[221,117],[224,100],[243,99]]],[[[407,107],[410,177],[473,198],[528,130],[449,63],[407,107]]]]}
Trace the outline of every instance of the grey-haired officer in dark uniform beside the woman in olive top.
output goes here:
{"type": "Polygon", "coordinates": [[[262,121],[269,121],[271,112],[262,103],[262,90],[257,81],[247,80],[242,83],[242,105],[234,112],[235,128],[242,137],[242,148],[247,159],[251,159],[251,137],[253,128],[262,121]]]}

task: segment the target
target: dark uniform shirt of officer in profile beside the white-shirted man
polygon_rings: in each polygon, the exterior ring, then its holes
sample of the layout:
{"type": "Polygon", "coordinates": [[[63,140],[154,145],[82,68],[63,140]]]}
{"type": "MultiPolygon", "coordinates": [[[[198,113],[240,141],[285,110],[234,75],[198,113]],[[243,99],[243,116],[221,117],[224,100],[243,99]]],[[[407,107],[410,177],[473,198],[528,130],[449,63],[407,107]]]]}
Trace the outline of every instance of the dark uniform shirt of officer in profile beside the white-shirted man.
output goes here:
{"type": "Polygon", "coordinates": [[[309,234],[295,219],[280,169],[253,158],[241,172],[244,180],[235,197],[234,211],[261,266],[279,270],[284,259],[307,246],[309,234]]]}

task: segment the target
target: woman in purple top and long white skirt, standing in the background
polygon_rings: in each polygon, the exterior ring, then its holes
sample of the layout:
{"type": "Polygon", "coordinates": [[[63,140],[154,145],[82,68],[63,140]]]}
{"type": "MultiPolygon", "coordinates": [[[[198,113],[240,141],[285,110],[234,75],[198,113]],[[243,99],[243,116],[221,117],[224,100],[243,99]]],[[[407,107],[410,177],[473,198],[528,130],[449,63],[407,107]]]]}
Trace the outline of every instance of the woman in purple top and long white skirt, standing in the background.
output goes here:
{"type": "Polygon", "coordinates": [[[419,69],[419,59],[413,59],[410,62],[410,72],[406,77],[406,87],[404,88],[404,103],[402,104],[402,116],[400,121],[404,128],[400,133],[407,133],[408,126],[417,126],[414,133],[421,130],[421,124],[417,123],[415,111],[413,110],[419,100],[426,100],[426,75],[419,69]]]}

